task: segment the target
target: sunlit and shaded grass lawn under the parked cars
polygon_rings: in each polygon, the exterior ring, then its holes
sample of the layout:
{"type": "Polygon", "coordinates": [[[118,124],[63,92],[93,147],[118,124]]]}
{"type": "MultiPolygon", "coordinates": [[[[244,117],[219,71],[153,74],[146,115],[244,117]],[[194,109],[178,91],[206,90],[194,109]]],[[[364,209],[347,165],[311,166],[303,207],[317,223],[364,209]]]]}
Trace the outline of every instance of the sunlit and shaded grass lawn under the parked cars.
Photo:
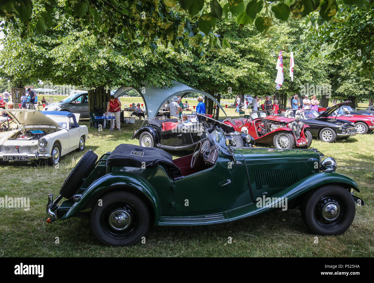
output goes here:
{"type": "MultiPolygon", "coordinates": [[[[127,97],[122,104],[140,102],[127,97]]],[[[191,100],[191,105],[196,100],[191,100]]],[[[234,108],[228,109],[234,116],[234,108]]],[[[237,115],[237,114],[236,114],[237,115]]],[[[88,120],[80,124],[89,126],[88,120]]],[[[90,129],[86,151],[92,149],[99,156],[112,151],[118,144],[137,144],[132,140],[134,130],[140,127],[122,124],[122,131],[108,129],[98,133],[90,129]]],[[[155,227],[151,226],[146,243],[132,247],[107,247],[95,240],[88,220],[68,219],[47,224],[45,212],[47,194],[58,195],[64,179],[83,153],[70,153],[62,157],[58,169],[39,166],[35,162],[11,162],[0,166],[0,197],[28,197],[30,210],[0,208],[0,256],[62,257],[62,256],[374,256],[374,132],[357,135],[332,144],[313,139],[312,147],[326,157],[337,160],[337,171],[352,177],[364,199],[364,207],[356,206],[352,226],[339,236],[311,234],[304,225],[300,211],[269,212],[231,223],[213,226],[155,227]],[[55,244],[56,237],[59,244],[55,244]],[[227,243],[232,237],[232,244],[227,243]]],[[[184,153],[172,152],[176,157],[184,153]]],[[[206,186],[209,186],[207,180],[206,186]]],[[[204,188],[202,187],[202,190],[204,188]]]]}

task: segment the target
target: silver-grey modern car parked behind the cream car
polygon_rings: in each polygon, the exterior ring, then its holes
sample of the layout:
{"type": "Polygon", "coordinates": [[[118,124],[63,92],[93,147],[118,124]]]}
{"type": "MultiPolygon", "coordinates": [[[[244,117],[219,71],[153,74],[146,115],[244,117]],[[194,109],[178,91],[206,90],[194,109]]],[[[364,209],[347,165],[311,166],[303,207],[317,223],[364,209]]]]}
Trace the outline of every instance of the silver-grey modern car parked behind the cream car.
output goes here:
{"type": "Polygon", "coordinates": [[[89,118],[88,115],[88,92],[83,91],[65,97],[59,102],[51,103],[43,111],[67,111],[80,114],[81,118],[89,118]]]}

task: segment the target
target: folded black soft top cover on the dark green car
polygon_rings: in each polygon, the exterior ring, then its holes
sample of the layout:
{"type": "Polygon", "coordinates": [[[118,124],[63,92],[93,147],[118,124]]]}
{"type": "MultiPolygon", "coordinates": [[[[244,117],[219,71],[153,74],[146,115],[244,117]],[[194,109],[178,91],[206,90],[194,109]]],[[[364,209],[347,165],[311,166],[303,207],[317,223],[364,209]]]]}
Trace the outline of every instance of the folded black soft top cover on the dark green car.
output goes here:
{"type": "Polygon", "coordinates": [[[127,166],[154,168],[162,165],[173,178],[181,177],[182,172],[172,161],[172,156],[156,147],[140,147],[133,144],[120,144],[107,159],[107,166],[127,166]]]}

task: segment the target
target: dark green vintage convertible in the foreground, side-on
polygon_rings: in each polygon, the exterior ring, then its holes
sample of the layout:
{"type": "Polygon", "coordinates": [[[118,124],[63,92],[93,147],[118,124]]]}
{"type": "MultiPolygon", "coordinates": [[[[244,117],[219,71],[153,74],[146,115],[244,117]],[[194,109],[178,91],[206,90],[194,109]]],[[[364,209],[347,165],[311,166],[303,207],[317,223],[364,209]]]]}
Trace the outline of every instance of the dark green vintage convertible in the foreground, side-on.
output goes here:
{"type": "Polygon", "coordinates": [[[313,233],[338,235],[353,222],[355,202],[364,204],[353,195],[359,192],[355,181],[336,173],[335,160],[322,161],[316,149],[226,142],[224,132],[212,126],[193,154],[175,160],[162,149],[129,144],[99,160],[90,150],[60,195],[48,195],[47,222],[85,217],[99,241],[128,246],[140,241],[151,223],[217,224],[301,206],[313,233]]]}

